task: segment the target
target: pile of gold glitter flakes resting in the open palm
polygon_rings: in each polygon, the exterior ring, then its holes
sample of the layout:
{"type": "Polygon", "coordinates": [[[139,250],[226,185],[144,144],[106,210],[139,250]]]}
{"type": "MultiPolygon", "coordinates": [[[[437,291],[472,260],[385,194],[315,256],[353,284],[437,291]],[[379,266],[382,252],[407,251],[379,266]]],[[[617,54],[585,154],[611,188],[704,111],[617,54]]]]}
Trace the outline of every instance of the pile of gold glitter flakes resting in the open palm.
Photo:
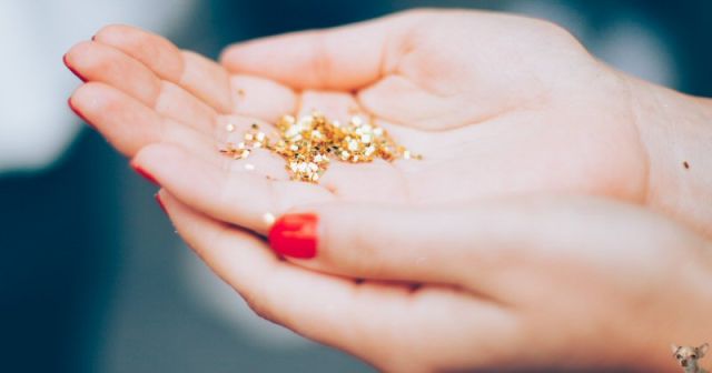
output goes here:
{"type": "MultiPolygon", "coordinates": [[[[234,130],[229,127],[228,131],[234,130]]],[[[246,159],[255,149],[267,149],[286,161],[291,180],[318,182],[328,169],[332,159],[349,163],[373,162],[375,159],[422,159],[398,145],[380,127],[352,117],[340,124],[314,112],[298,120],[283,115],[277,121],[279,139],[270,139],[253,124],[238,144],[227,143],[220,152],[234,159],[246,159]]]]}

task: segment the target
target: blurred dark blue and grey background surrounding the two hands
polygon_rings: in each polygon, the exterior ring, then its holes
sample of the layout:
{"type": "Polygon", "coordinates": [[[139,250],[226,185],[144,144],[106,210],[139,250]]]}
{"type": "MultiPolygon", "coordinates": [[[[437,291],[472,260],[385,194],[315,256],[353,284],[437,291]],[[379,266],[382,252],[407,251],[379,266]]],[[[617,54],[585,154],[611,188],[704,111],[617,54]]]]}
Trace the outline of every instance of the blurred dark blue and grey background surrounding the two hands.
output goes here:
{"type": "Polygon", "coordinates": [[[67,108],[62,54],[130,23],[226,44],[414,7],[555,21],[599,58],[712,95],[712,1],[0,0],[0,372],[370,372],[251,314],[185,248],[155,188],[67,108]]]}

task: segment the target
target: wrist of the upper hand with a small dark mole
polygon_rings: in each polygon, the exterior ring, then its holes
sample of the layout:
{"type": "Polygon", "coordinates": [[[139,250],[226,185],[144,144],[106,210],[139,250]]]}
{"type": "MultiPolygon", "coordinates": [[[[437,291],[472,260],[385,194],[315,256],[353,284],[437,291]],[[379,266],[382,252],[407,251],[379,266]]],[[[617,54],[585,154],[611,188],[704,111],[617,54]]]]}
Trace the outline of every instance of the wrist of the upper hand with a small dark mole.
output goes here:
{"type": "Polygon", "coordinates": [[[646,203],[712,236],[712,101],[625,78],[647,151],[646,203]]]}

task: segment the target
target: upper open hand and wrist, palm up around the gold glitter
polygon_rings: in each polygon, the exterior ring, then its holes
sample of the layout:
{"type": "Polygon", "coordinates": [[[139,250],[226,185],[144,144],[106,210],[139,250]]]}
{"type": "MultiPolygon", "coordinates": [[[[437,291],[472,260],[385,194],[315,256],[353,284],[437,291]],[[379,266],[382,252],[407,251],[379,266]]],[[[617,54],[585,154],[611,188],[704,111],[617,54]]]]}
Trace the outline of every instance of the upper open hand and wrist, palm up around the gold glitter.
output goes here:
{"type": "MultiPolygon", "coordinates": [[[[192,208],[219,219],[240,211],[230,222],[259,232],[265,213],[312,202],[417,205],[537,191],[645,203],[700,231],[712,226],[711,158],[699,151],[710,134],[657,147],[672,135],[649,131],[645,120],[662,107],[700,120],[703,105],[633,82],[550,23],[414,11],[238,44],[222,60],[230,73],[162,38],[109,27],[67,56],[89,81],[71,104],[129,157],[150,143],[180,144],[152,150],[164,162],[135,164],[192,208]],[[646,107],[650,91],[664,104],[646,107]],[[320,185],[307,185],[288,182],[274,154],[231,161],[217,152],[254,121],[269,128],[283,113],[313,109],[373,115],[425,159],[334,162],[320,185]],[[228,122],[238,130],[227,133],[228,122]]],[[[663,117],[681,132],[692,125],[663,117]]]]}

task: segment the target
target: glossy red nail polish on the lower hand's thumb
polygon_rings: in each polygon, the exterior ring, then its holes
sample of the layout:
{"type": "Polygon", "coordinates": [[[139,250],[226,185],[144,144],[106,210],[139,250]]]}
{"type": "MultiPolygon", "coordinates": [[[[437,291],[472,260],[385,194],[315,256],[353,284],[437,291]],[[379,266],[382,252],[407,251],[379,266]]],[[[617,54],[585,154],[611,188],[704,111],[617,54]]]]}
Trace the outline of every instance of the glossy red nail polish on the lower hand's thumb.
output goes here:
{"type": "Polygon", "coordinates": [[[280,255],[316,256],[318,216],[313,213],[286,214],[269,230],[269,245],[280,255]]]}

